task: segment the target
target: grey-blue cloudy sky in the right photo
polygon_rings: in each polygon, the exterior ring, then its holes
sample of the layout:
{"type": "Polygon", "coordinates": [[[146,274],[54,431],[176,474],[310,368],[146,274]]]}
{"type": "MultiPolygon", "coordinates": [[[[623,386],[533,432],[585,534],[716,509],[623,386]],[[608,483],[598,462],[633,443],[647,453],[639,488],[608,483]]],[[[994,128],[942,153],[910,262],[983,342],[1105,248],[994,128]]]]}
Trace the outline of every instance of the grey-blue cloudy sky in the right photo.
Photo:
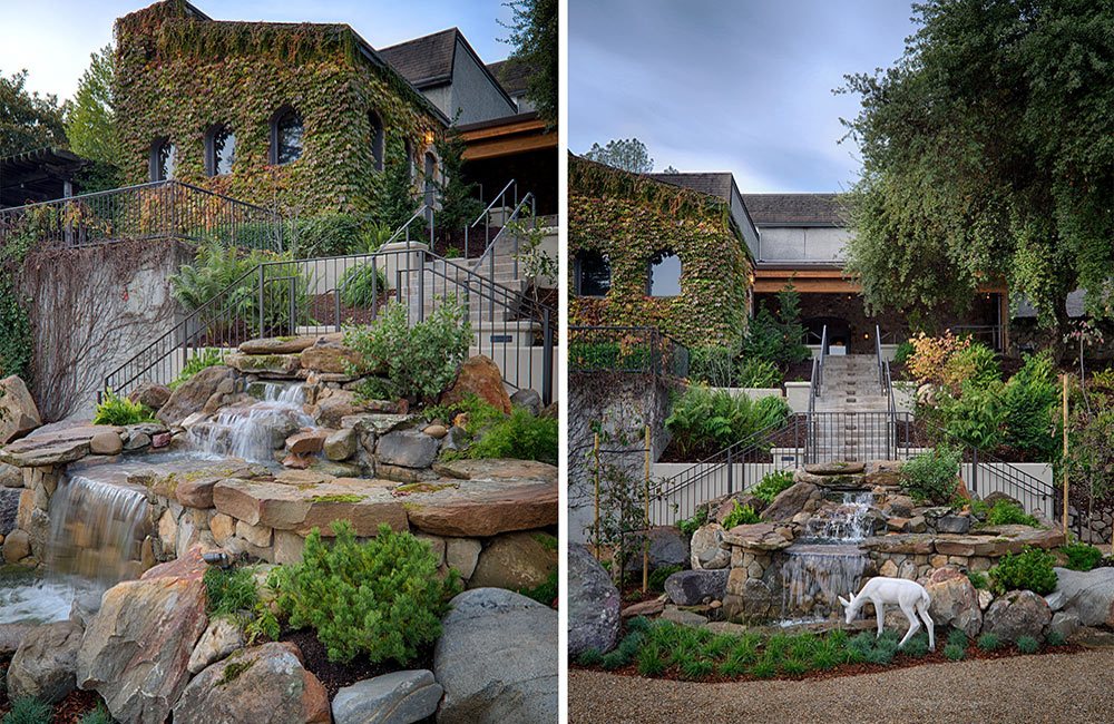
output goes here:
{"type": "Polygon", "coordinates": [[[846,188],[843,75],[890,66],[908,0],[568,0],[569,149],[639,138],[658,170],[746,192],[846,188]]]}

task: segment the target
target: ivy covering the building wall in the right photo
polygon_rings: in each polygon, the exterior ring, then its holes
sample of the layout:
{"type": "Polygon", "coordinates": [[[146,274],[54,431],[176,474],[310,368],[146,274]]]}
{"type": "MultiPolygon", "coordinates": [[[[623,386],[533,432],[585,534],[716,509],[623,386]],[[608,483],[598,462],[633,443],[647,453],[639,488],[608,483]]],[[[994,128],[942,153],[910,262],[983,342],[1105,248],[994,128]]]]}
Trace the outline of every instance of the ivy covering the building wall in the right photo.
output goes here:
{"type": "Polygon", "coordinates": [[[575,156],[568,184],[570,260],[595,251],[612,268],[605,297],[570,295],[571,324],[656,326],[690,346],[740,341],[752,264],[725,202],[575,156]],[[652,297],[648,264],[665,251],[681,260],[681,295],[652,297]]]}

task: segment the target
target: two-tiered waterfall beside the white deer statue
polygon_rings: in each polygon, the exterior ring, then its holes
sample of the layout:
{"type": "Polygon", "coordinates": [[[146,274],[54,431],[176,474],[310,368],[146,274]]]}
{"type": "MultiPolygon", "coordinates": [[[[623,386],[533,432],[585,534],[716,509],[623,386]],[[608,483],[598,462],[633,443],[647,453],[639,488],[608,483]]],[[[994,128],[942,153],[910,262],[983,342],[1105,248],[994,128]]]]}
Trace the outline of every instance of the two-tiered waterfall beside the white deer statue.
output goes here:
{"type": "Polygon", "coordinates": [[[844,492],[842,501],[809,520],[808,539],[785,549],[781,568],[782,617],[812,619],[840,610],[838,598],[859,590],[867,555],[858,542],[873,532],[870,492],[844,492]]]}

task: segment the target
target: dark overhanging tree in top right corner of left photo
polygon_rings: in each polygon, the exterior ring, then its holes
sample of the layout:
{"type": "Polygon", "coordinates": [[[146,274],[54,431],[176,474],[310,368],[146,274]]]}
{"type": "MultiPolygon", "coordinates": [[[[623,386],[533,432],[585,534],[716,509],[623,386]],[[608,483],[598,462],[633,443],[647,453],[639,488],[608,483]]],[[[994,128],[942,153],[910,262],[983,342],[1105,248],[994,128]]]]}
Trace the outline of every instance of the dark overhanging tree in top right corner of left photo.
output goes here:
{"type": "Polygon", "coordinates": [[[510,67],[522,66],[530,71],[526,98],[538,110],[538,117],[549,128],[557,127],[558,107],[558,0],[512,0],[505,3],[514,12],[510,37],[515,46],[507,59],[510,67]]]}

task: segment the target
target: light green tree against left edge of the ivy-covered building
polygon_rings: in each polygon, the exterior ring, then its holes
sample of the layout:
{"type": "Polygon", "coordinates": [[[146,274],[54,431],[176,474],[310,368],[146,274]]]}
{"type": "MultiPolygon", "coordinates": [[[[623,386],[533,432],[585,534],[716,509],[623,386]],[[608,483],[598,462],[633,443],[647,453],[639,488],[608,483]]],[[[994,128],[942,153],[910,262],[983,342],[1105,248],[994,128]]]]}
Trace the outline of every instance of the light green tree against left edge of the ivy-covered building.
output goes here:
{"type": "Polygon", "coordinates": [[[66,136],[70,149],[94,162],[86,169],[86,190],[118,185],[119,144],[113,102],[115,53],[105,46],[89,56],[89,67],[78,81],[77,94],[66,102],[66,136]]]}

